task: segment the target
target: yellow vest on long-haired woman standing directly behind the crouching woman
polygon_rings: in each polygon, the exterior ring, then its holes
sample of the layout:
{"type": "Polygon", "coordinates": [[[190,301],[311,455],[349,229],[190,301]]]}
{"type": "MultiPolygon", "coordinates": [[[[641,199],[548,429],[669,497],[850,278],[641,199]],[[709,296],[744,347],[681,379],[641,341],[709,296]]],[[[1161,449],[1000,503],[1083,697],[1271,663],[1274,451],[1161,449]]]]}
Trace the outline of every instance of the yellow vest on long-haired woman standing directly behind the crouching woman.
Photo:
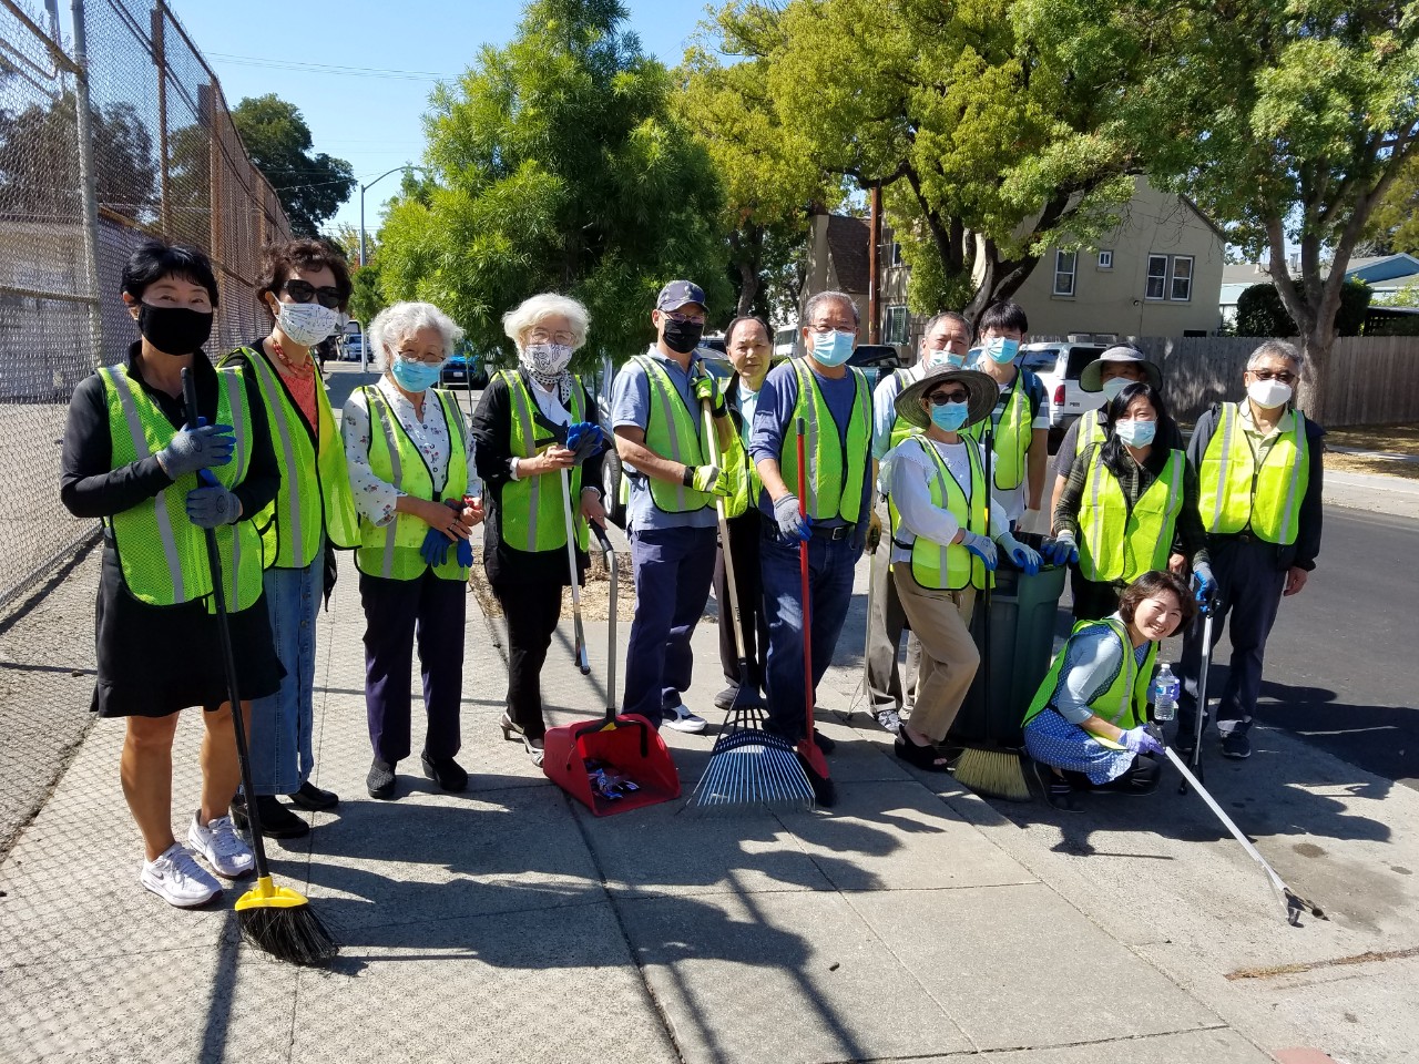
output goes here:
{"type": "Polygon", "coordinates": [[[1168,566],[1172,532],[1182,512],[1185,457],[1182,451],[1171,451],[1162,474],[1130,508],[1122,485],[1104,465],[1103,453],[1103,447],[1090,453],[1084,478],[1078,570],[1087,580],[1131,583],[1168,566]]]}

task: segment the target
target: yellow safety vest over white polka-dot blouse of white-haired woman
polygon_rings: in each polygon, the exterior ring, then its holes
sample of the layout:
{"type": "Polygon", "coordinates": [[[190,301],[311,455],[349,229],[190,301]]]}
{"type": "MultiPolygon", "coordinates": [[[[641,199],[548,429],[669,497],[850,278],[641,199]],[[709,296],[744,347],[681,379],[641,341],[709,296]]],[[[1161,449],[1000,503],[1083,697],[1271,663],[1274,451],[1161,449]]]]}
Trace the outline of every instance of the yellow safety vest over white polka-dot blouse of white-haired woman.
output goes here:
{"type": "MultiPolygon", "coordinates": [[[[404,495],[443,502],[461,499],[468,489],[468,443],[464,437],[463,416],[451,392],[441,387],[429,389],[437,397],[448,430],[448,468],[444,482],[434,484],[433,474],[424,462],[424,455],[409,438],[409,433],[389,409],[377,387],[366,384],[360,389],[369,404],[369,468],[386,484],[393,484],[404,495]]],[[[427,399],[424,400],[427,409],[427,399]]],[[[382,576],[386,580],[416,580],[424,575],[429,565],[420,556],[429,525],[413,514],[394,514],[394,519],[383,528],[363,514],[359,519],[360,545],[355,550],[355,565],[366,576],[382,576]]],[[[434,567],[440,580],[467,580],[467,566],[458,565],[457,545],[448,545],[444,563],[434,567]]]]}

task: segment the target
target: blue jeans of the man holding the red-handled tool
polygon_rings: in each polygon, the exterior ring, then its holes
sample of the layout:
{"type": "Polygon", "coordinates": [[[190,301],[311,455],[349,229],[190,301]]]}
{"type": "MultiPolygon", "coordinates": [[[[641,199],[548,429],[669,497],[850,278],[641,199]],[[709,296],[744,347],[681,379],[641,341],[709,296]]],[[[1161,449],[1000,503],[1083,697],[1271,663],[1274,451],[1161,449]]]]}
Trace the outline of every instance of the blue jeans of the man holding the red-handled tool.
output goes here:
{"type": "MultiPolygon", "coordinates": [[[[847,539],[815,536],[807,545],[807,586],[813,631],[813,697],[823,672],[833,663],[837,637],[853,599],[853,566],[861,546],[847,539]]],[[[785,543],[765,526],[759,553],[763,573],[763,611],[769,617],[766,663],[768,729],[789,742],[807,733],[803,691],[803,584],[797,543],[785,543]]]]}

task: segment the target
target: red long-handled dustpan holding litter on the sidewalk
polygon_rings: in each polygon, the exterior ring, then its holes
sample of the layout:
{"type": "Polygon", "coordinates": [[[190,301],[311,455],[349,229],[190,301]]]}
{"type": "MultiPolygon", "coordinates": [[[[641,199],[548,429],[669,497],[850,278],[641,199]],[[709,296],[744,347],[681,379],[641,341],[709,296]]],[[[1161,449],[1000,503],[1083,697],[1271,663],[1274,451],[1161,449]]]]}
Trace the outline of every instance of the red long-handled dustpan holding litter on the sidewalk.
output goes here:
{"type": "MultiPolygon", "coordinates": [[[[606,654],[606,716],[551,728],[542,772],[599,817],[680,797],[680,773],[666,741],[640,714],[616,712],[616,552],[606,531],[589,522],[612,576],[606,654]]],[[[573,573],[575,579],[575,573],[573,573]]]]}

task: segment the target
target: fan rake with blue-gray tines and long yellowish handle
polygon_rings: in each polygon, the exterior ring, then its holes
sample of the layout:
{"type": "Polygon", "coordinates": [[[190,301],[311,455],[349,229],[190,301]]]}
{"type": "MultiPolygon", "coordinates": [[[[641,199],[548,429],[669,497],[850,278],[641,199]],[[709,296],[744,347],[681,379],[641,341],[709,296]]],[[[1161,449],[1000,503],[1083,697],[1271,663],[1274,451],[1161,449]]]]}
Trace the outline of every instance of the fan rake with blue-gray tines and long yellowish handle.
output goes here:
{"type": "MultiPolygon", "coordinates": [[[[702,400],[701,406],[710,461],[718,467],[719,447],[714,419],[710,413],[710,400],[702,400]]],[[[813,809],[813,787],[803,773],[803,766],[793,756],[793,745],[782,736],[763,731],[765,709],[762,702],[755,698],[753,685],[749,681],[749,655],[744,647],[744,617],[739,616],[739,590],[734,575],[729,525],[722,495],[715,495],[715,515],[719,521],[719,549],[724,555],[725,583],[729,586],[729,602],[719,603],[719,609],[731,610],[734,617],[739,688],[725,714],[724,729],[710,752],[710,763],[695,786],[694,804],[705,813],[734,813],[759,806],[772,810],[806,811],[813,809]]],[[[812,733],[810,715],[809,735],[812,736],[812,733]]]]}

